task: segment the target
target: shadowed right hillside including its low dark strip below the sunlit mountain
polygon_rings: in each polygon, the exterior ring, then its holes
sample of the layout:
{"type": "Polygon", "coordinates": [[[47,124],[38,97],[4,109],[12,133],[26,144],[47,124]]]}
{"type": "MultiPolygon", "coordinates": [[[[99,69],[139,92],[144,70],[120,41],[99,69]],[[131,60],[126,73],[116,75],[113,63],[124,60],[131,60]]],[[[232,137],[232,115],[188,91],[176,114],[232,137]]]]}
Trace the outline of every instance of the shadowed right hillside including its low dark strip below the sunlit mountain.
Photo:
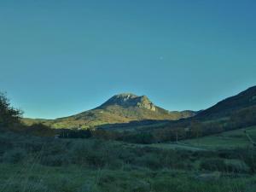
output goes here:
{"type": "MultiPolygon", "coordinates": [[[[184,113],[184,112],[183,112],[184,113]]],[[[189,111],[188,111],[189,113],[189,111]]],[[[129,123],[104,125],[119,131],[149,131],[160,129],[190,129],[192,124],[200,126],[204,134],[240,129],[256,125],[256,86],[242,91],[236,96],[230,96],[214,106],[177,120],[143,120],[129,123]]]]}

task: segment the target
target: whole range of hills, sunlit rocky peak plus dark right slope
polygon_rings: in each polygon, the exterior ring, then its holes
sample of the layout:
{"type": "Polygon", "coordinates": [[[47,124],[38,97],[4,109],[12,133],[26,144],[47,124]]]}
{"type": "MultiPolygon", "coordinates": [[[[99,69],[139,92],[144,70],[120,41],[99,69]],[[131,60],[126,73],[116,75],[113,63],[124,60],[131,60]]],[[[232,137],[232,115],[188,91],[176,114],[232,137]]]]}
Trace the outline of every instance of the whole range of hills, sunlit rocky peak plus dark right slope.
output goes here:
{"type": "Polygon", "coordinates": [[[149,131],[160,129],[190,129],[200,125],[203,135],[256,125],[256,86],[230,96],[199,112],[169,112],[150,102],[147,96],[120,94],[100,107],[70,117],[23,119],[26,125],[42,123],[51,128],[104,128],[118,131],[149,131]]]}

